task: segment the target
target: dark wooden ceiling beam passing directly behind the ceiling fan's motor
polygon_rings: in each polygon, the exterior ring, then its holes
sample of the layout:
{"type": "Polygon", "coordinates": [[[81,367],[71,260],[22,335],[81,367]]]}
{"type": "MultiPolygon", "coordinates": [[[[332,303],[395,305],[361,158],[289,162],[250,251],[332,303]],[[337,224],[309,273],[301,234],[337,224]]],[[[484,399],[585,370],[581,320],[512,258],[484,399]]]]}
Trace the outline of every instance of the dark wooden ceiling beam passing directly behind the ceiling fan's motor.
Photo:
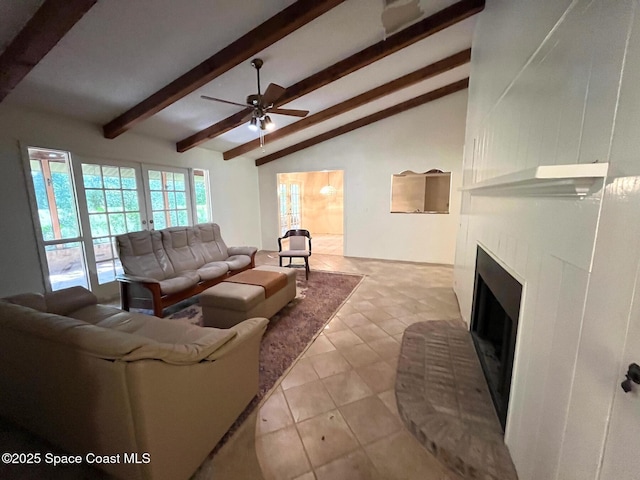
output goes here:
{"type": "MultiPolygon", "coordinates": [[[[476,13],[481,12],[483,9],[484,0],[461,0],[454,3],[453,5],[444,8],[427,18],[414,23],[404,30],[387,37],[385,40],[381,40],[378,43],[375,43],[364,50],[361,50],[358,53],[355,53],[350,57],[345,58],[344,60],[341,60],[290,86],[274,106],[278,107],[289,103],[415,42],[440,32],[451,25],[461,22],[476,13]]],[[[212,138],[242,125],[243,119],[250,111],[250,109],[244,109],[241,112],[231,115],[230,117],[205,128],[204,130],[180,140],[176,144],[177,151],[185,152],[206,142],[207,140],[211,140],[212,138]]]]}

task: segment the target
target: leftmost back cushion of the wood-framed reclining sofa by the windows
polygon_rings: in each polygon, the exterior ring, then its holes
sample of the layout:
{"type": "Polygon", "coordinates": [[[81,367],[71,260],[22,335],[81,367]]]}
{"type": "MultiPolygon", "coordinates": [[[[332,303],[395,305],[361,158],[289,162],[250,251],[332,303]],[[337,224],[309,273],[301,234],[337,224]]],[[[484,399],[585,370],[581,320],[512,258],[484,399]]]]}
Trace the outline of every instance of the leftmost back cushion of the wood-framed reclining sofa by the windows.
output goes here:
{"type": "Polygon", "coordinates": [[[157,230],[142,230],[116,237],[118,256],[129,275],[164,280],[175,274],[157,230]]]}

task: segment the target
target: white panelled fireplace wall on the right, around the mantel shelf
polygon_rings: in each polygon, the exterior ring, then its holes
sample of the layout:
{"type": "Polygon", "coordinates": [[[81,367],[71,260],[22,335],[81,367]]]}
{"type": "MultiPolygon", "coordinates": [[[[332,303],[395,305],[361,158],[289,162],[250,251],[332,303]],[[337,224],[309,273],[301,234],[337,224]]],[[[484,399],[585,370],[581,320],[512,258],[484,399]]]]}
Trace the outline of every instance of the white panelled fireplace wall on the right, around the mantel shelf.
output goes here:
{"type": "Polygon", "coordinates": [[[625,64],[636,3],[488,0],[476,27],[465,185],[538,165],[610,162],[613,172],[582,200],[463,196],[455,291],[465,319],[478,245],[525,287],[505,435],[520,480],[623,478],[600,469],[638,321],[640,32],[625,64]]]}

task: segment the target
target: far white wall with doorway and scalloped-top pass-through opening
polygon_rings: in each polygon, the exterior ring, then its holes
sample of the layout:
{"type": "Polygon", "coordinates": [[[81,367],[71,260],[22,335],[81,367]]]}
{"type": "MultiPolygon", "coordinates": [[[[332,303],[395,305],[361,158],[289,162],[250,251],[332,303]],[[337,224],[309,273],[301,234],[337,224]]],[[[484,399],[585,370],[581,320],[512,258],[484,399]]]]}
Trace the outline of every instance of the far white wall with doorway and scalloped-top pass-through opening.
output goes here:
{"type": "Polygon", "coordinates": [[[278,249],[278,173],[344,170],[346,256],[452,264],[466,103],[458,92],[260,166],[264,248],[278,249]],[[389,213],[391,175],[432,168],[452,172],[451,213],[389,213]]]}

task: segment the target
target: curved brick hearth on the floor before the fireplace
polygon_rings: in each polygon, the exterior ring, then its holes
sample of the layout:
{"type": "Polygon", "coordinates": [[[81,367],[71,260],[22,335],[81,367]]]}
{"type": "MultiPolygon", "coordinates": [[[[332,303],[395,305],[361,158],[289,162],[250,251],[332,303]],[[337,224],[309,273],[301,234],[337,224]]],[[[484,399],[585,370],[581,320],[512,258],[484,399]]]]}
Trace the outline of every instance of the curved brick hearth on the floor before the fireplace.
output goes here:
{"type": "Polygon", "coordinates": [[[396,399],[409,430],[453,471],[470,479],[517,480],[463,322],[420,322],[405,330],[396,399]]]}

